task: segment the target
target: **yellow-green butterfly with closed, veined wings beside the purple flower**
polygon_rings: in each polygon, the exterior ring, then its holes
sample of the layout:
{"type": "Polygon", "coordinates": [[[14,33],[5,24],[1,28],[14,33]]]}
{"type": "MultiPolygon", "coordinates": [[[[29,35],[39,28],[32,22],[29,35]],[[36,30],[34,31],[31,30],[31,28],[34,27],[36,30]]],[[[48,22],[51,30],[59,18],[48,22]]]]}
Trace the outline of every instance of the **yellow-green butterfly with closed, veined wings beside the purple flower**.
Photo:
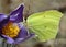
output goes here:
{"type": "Polygon", "coordinates": [[[63,14],[56,10],[48,10],[30,15],[26,20],[28,26],[41,42],[54,39],[59,28],[59,20],[63,14]]]}

